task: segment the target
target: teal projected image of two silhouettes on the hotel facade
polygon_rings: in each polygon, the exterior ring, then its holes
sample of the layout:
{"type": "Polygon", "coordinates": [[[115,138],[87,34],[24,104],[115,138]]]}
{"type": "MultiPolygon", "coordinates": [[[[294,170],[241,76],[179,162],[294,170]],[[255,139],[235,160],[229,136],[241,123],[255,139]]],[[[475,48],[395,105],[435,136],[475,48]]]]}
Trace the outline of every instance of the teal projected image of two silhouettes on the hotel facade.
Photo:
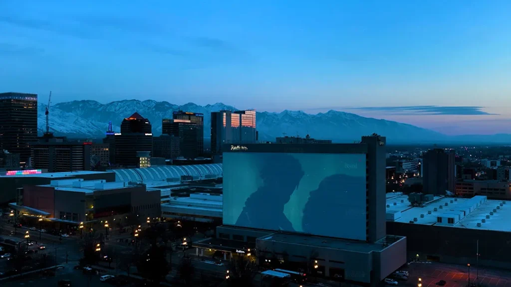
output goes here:
{"type": "Polygon", "coordinates": [[[365,157],[224,153],[223,223],[365,240],[365,157]]]}

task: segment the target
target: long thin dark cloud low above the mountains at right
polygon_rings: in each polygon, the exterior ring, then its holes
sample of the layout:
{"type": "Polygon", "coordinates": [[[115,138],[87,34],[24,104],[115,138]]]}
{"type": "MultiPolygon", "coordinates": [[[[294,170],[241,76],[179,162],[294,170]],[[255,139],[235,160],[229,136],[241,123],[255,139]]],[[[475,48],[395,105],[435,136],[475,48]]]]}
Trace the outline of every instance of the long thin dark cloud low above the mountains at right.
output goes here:
{"type": "Polygon", "coordinates": [[[484,107],[478,106],[405,106],[405,107],[361,107],[349,108],[350,110],[375,111],[387,114],[399,115],[495,115],[483,111],[484,107]]]}

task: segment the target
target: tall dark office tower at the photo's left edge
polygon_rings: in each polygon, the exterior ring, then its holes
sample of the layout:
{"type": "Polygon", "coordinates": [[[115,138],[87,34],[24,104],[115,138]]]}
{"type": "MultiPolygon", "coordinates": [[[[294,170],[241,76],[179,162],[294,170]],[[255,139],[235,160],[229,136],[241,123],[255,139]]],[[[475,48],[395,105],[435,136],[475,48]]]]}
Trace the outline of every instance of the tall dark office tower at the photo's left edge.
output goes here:
{"type": "Polygon", "coordinates": [[[0,93],[0,149],[19,154],[20,164],[37,142],[37,94],[0,93]]]}

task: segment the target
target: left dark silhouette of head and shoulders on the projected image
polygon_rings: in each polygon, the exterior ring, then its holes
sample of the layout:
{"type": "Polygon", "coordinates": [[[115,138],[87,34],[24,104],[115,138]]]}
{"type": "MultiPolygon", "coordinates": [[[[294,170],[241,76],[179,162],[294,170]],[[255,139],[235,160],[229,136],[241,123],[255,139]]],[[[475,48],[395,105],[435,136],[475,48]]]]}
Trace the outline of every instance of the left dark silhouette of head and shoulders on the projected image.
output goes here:
{"type": "Polygon", "coordinates": [[[284,215],[284,205],[304,176],[300,162],[287,154],[260,156],[264,157],[264,164],[259,171],[263,186],[245,201],[236,225],[294,231],[293,225],[284,215]]]}

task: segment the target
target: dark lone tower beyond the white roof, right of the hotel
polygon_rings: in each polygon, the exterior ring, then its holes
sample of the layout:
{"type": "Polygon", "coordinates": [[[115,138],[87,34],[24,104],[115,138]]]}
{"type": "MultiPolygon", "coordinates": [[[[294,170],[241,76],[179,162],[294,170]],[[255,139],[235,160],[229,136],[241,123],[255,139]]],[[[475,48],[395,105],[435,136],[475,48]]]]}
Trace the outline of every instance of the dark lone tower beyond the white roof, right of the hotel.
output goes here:
{"type": "Polygon", "coordinates": [[[423,186],[425,194],[445,195],[456,188],[455,151],[433,149],[423,156],[423,186]]]}

